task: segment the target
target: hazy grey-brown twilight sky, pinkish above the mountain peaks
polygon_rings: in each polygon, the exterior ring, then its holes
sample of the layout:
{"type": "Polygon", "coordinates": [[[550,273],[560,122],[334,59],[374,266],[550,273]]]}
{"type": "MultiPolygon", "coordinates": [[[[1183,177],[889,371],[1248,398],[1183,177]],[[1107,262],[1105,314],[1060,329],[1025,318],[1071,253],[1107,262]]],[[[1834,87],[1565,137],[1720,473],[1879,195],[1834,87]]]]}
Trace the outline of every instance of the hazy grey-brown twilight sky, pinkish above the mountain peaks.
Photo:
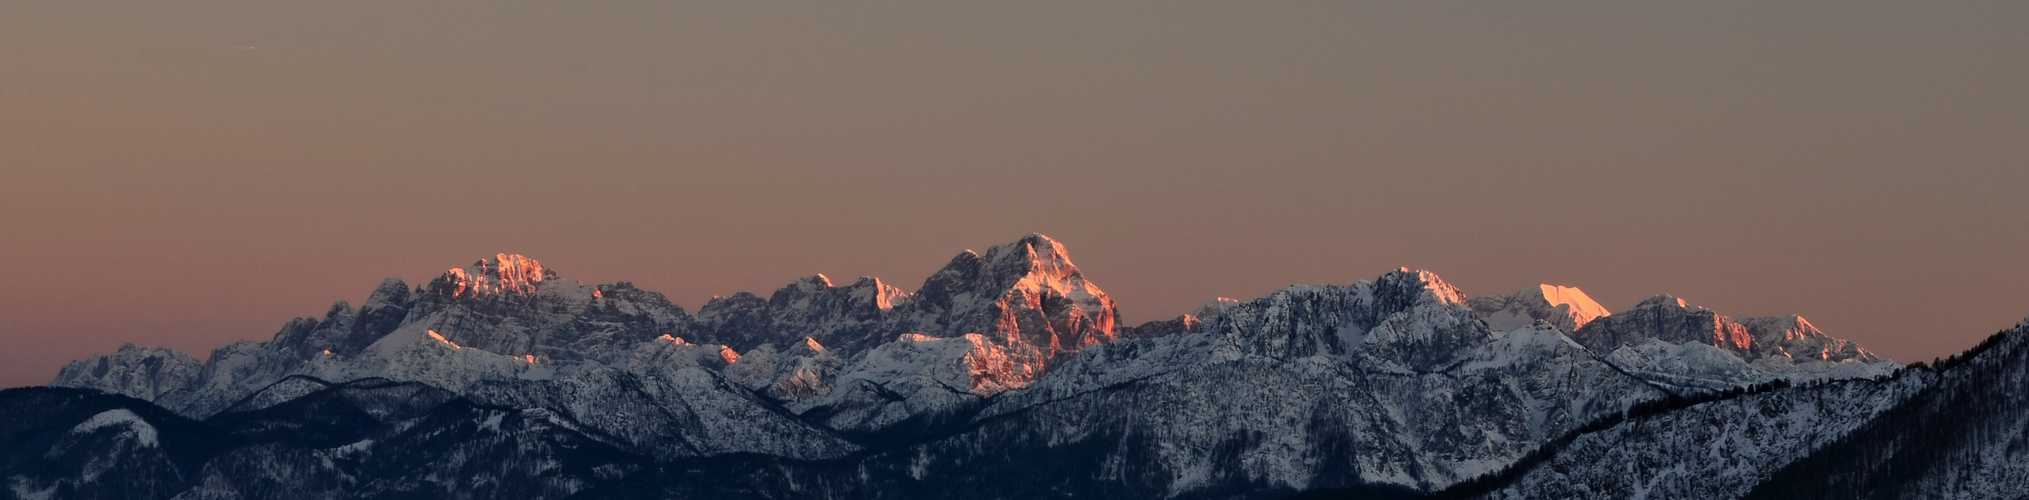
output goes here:
{"type": "Polygon", "coordinates": [[[1428,268],[2029,315],[2023,2],[6,2],[0,386],[495,252],[688,309],[1065,242],[1130,321],[1428,268]]]}

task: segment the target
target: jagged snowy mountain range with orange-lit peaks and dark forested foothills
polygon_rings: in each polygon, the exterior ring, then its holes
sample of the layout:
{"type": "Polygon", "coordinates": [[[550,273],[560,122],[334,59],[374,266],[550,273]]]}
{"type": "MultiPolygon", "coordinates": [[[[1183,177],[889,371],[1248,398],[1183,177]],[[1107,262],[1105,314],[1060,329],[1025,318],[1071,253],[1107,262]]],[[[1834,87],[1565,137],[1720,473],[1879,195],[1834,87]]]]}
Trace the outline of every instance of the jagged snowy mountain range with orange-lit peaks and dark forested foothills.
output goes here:
{"type": "Polygon", "coordinates": [[[71,441],[148,429],[154,445],[34,441],[112,465],[0,474],[16,496],[130,498],[1418,494],[1643,404],[1899,368],[1794,315],[1668,295],[1609,313],[1552,285],[1467,299],[1408,268],[1120,325],[1041,234],[960,252],[913,293],[818,274],[696,313],[499,254],[388,278],[207,362],[132,343],[73,362],[51,386],[144,402],[34,394],[97,409],[45,419],[89,429],[71,441]],[[152,411],[81,425],[122,404],[152,411]],[[177,433],[217,439],[179,449],[177,433]],[[146,480],[110,482],[120,463],[146,480]]]}

